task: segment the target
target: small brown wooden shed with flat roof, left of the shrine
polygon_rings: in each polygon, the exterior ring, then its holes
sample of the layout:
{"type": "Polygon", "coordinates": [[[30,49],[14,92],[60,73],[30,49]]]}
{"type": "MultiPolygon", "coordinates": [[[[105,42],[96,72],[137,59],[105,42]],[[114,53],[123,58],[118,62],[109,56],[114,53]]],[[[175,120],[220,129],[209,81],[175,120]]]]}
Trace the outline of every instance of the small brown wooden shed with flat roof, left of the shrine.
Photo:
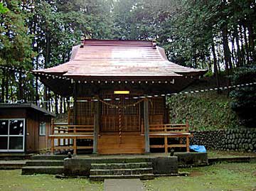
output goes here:
{"type": "Polygon", "coordinates": [[[34,104],[0,104],[0,152],[38,153],[49,148],[53,116],[34,104]]]}

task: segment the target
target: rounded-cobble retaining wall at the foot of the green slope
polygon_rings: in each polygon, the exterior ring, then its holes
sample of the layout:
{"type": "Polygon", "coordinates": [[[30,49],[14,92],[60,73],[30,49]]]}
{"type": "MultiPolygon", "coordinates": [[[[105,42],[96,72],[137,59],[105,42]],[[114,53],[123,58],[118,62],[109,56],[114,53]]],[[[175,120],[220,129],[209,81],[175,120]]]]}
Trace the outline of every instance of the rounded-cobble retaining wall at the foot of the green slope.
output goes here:
{"type": "Polygon", "coordinates": [[[227,129],[216,131],[191,131],[191,145],[206,146],[206,149],[224,151],[256,152],[255,129],[227,129]]]}

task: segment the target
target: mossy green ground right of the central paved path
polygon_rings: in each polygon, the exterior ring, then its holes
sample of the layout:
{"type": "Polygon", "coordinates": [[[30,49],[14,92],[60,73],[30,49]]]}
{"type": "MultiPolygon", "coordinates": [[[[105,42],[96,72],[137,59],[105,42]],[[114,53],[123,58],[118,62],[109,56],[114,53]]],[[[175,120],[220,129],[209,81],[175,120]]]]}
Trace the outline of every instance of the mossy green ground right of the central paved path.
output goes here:
{"type": "Polygon", "coordinates": [[[181,169],[187,177],[160,177],[144,181],[154,191],[221,191],[256,190],[255,163],[220,163],[203,168],[181,169]]]}

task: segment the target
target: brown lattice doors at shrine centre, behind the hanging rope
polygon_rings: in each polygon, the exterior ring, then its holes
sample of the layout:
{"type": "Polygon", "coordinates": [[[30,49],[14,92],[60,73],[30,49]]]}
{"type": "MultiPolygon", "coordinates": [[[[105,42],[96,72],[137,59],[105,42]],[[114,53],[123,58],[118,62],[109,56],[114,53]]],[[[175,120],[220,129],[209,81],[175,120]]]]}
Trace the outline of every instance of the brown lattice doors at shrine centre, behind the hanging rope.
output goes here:
{"type": "Polygon", "coordinates": [[[104,95],[103,99],[111,99],[101,104],[102,132],[119,132],[121,121],[122,132],[141,131],[140,104],[129,95],[104,95]]]}

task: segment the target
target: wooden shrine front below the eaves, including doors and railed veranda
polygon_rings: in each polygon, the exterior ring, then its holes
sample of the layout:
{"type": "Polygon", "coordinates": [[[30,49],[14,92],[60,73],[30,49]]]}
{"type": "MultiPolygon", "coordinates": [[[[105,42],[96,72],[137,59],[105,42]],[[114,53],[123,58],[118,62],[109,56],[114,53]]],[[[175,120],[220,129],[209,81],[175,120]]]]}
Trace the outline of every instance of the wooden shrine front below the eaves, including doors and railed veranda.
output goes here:
{"type": "Polygon", "coordinates": [[[80,101],[76,105],[77,111],[70,111],[68,124],[53,126],[50,135],[52,153],[55,149],[73,149],[74,153],[78,149],[91,149],[100,154],[149,153],[150,148],[164,148],[168,153],[169,148],[176,147],[189,151],[188,123],[166,124],[169,115],[162,97],[139,100],[122,97],[113,102],[101,99],[97,102],[80,101]],[[77,125],[73,125],[74,121],[77,125]],[[151,143],[150,139],[154,138],[159,138],[162,143],[151,143]],[[178,138],[178,143],[169,143],[175,138],[178,138]],[[183,138],[186,138],[185,143],[183,138]],[[85,146],[77,146],[78,139],[90,141],[85,146]]]}

